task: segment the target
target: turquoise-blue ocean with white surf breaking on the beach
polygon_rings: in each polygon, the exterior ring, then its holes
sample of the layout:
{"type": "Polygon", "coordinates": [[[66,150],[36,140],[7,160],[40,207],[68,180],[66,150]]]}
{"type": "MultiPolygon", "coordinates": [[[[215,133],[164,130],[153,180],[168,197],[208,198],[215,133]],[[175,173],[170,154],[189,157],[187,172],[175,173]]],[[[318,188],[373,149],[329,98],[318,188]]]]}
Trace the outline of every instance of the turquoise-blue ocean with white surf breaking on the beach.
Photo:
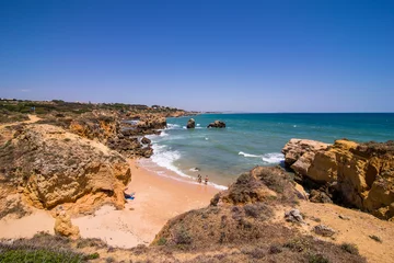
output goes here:
{"type": "Polygon", "coordinates": [[[167,118],[161,135],[151,135],[154,153],[140,163],[164,176],[196,183],[197,174],[224,188],[255,165],[276,165],[291,138],[333,144],[394,139],[394,113],[277,113],[201,114],[193,116],[195,129],[186,129],[190,117],[167,118]],[[216,119],[227,128],[207,128],[216,119]]]}

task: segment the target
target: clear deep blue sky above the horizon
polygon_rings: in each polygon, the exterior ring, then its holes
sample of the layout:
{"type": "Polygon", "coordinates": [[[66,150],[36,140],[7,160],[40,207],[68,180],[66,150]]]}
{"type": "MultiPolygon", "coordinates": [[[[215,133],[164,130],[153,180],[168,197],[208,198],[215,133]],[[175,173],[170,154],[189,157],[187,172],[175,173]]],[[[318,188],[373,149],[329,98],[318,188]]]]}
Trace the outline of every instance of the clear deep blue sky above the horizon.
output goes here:
{"type": "Polygon", "coordinates": [[[0,1],[0,96],[394,112],[394,1],[0,1]]]}

